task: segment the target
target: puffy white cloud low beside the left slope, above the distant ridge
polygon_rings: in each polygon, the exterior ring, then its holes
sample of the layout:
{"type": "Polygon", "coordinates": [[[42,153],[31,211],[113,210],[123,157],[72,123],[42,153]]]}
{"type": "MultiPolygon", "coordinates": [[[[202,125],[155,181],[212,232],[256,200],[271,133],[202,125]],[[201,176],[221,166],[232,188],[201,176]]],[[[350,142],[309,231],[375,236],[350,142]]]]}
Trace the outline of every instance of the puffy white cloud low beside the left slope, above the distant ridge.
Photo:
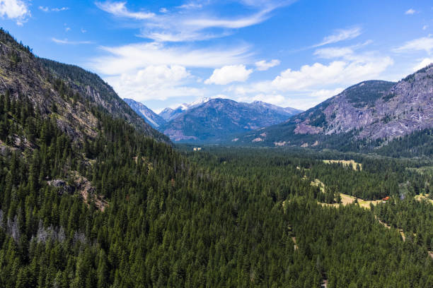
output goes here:
{"type": "Polygon", "coordinates": [[[112,85],[120,97],[145,101],[201,96],[202,90],[185,86],[185,80],[190,77],[190,72],[183,66],[159,65],[110,76],[105,80],[112,85]]]}

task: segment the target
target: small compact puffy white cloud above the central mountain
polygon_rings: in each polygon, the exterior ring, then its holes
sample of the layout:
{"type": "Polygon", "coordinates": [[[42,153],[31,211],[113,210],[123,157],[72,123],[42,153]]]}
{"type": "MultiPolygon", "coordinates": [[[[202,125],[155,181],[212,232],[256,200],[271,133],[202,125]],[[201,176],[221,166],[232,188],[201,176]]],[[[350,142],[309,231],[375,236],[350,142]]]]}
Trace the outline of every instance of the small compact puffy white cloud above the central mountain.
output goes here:
{"type": "Polygon", "coordinates": [[[245,65],[229,65],[217,68],[204,84],[226,85],[232,82],[244,82],[250,76],[253,69],[247,69],[245,65]]]}

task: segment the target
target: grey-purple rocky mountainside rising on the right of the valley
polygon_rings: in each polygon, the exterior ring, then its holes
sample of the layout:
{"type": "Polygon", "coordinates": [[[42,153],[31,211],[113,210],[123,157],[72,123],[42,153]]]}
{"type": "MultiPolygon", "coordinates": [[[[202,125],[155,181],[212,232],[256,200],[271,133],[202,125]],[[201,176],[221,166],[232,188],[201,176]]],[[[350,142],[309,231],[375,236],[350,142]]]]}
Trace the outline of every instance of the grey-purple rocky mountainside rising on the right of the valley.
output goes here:
{"type": "Polygon", "coordinates": [[[354,85],[284,124],[240,137],[238,143],[325,145],[331,139],[326,136],[383,143],[432,127],[433,65],[429,65],[398,83],[370,80],[354,85]]]}

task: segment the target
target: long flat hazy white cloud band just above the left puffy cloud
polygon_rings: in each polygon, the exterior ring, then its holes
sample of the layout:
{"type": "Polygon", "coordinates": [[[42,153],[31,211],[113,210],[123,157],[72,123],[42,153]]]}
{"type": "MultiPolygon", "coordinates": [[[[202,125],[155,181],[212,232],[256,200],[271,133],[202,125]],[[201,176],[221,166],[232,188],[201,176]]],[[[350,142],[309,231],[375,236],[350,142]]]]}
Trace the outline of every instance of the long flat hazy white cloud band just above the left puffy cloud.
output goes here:
{"type": "Polygon", "coordinates": [[[136,71],[151,65],[214,68],[221,65],[248,63],[251,56],[248,46],[191,49],[189,46],[167,47],[161,43],[151,42],[121,47],[102,47],[102,49],[109,55],[93,59],[89,66],[105,75],[136,71]]]}

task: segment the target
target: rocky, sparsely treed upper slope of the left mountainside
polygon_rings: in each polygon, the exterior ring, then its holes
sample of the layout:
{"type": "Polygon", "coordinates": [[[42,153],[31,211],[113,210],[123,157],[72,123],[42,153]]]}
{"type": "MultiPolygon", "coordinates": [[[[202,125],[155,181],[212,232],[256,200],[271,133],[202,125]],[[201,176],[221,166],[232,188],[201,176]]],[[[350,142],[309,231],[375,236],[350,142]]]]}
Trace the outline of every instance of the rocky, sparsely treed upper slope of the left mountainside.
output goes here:
{"type": "Polygon", "coordinates": [[[146,136],[168,141],[96,74],[37,58],[3,30],[0,42],[0,93],[27,99],[42,117],[54,117],[57,126],[74,140],[97,135],[98,121],[91,111],[96,108],[124,119],[146,136]]]}

